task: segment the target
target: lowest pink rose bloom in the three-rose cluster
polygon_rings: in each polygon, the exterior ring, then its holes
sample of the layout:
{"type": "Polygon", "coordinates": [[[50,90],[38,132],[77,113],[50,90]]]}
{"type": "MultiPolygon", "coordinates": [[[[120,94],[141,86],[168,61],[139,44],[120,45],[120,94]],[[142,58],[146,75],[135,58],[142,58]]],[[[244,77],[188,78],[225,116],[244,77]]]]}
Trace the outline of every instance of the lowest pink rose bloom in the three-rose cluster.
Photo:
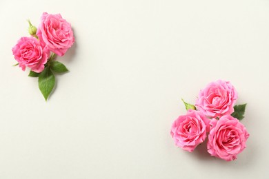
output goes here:
{"type": "Polygon", "coordinates": [[[246,148],[246,140],[250,136],[237,118],[225,115],[210,121],[208,135],[208,153],[223,160],[235,160],[237,154],[246,148]]]}

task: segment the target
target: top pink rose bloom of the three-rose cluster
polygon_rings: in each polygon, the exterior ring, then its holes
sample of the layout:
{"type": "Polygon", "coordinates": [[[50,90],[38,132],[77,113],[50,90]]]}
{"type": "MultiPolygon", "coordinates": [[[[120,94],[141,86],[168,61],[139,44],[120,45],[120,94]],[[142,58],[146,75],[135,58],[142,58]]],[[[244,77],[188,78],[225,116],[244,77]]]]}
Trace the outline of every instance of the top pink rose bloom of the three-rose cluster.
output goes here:
{"type": "Polygon", "coordinates": [[[228,81],[209,83],[199,93],[196,106],[206,116],[215,118],[234,112],[237,92],[228,81]]]}

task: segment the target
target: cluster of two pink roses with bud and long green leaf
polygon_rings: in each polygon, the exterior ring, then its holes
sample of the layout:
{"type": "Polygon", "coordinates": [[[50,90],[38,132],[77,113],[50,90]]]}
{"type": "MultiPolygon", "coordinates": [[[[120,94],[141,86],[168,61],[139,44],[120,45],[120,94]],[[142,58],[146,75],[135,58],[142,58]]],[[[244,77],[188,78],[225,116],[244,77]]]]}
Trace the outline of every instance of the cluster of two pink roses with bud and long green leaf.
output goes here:
{"type": "Polygon", "coordinates": [[[55,84],[54,73],[68,72],[55,57],[66,54],[74,43],[74,35],[70,23],[61,14],[43,12],[39,28],[28,23],[31,36],[21,37],[12,52],[16,65],[23,71],[29,67],[29,76],[38,77],[39,89],[47,101],[55,84]]]}

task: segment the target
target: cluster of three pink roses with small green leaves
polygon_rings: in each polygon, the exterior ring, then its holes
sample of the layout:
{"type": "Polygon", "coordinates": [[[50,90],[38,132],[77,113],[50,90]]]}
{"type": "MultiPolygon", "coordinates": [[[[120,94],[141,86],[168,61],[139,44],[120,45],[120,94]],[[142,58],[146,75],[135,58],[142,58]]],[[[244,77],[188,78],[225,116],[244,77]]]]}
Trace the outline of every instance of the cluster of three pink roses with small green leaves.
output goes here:
{"type": "Polygon", "coordinates": [[[243,119],[246,104],[235,105],[237,92],[228,81],[215,81],[202,89],[195,105],[183,101],[188,110],[172,124],[175,145],[192,152],[208,135],[208,153],[223,160],[235,160],[246,148],[249,137],[243,119]]]}

